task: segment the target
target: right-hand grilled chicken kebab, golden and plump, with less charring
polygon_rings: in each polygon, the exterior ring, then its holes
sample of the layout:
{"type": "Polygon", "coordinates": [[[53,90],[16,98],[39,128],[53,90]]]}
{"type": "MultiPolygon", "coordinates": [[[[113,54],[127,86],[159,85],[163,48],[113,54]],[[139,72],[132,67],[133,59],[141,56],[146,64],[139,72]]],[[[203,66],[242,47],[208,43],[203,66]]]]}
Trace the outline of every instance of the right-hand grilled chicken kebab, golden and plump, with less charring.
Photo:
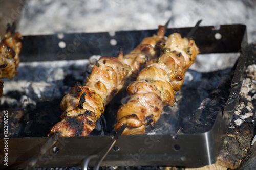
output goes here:
{"type": "Polygon", "coordinates": [[[175,93],[184,81],[184,72],[195,62],[199,48],[194,40],[170,35],[164,53],[146,63],[136,81],[127,87],[129,101],[117,112],[115,130],[127,126],[122,135],[145,133],[145,125],[154,125],[160,118],[163,106],[173,106],[175,93]]]}

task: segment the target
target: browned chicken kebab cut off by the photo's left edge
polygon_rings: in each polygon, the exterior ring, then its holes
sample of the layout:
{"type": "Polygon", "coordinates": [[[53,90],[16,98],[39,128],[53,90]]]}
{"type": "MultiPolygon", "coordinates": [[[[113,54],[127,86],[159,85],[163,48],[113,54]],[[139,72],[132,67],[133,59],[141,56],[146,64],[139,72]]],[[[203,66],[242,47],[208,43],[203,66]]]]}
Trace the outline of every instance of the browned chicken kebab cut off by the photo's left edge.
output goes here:
{"type": "Polygon", "coordinates": [[[17,75],[19,52],[22,48],[22,35],[19,32],[11,34],[10,30],[0,41],[0,96],[3,95],[4,83],[1,78],[13,79],[17,75]]]}

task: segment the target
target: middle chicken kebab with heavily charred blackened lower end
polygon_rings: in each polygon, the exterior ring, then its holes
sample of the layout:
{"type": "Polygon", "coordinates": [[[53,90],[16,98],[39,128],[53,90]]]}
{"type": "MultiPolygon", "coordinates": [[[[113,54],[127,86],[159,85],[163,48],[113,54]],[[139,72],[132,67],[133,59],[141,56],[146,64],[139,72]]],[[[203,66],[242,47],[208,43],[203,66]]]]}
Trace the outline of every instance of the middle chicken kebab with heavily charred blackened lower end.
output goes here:
{"type": "Polygon", "coordinates": [[[166,41],[164,27],[159,26],[157,35],[147,37],[129,54],[118,57],[101,57],[87,77],[86,86],[76,83],[60,103],[64,111],[61,121],[55,124],[48,136],[88,136],[103,114],[105,105],[127,84],[136,78],[148,59],[160,55],[166,41]]]}

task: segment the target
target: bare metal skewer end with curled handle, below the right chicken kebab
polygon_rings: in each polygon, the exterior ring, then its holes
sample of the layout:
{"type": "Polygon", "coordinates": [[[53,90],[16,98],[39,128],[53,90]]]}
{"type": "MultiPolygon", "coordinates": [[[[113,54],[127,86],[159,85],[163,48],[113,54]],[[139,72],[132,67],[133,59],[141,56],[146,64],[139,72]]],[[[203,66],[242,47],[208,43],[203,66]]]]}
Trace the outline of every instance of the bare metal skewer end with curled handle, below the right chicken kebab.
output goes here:
{"type": "Polygon", "coordinates": [[[88,156],[84,162],[83,162],[83,170],[87,170],[88,169],[88,164],[89,164],[89,161],[91,159],[94,159],[94,158],[97,158],[97,161],[94,165],[94,169],[95,170],[98,170],[99,169],[99,166],[101,164],[101,162],[104,160],[104,158],[106,157],[106,155],[108,155],[108,153],[110,152],[110,150],[112,149],[113,145],[116,143],[118,137],[123,133],[124,129],[127,127],[126,124],[122,125],[121,128],[118,130],[118,132],[115,134],[113,140],[111,141],[111,143],[109,143],[108,147],[106,147],[106,149],[98,156],[98,155],[91,155],[91,156],[88,156]]]}

